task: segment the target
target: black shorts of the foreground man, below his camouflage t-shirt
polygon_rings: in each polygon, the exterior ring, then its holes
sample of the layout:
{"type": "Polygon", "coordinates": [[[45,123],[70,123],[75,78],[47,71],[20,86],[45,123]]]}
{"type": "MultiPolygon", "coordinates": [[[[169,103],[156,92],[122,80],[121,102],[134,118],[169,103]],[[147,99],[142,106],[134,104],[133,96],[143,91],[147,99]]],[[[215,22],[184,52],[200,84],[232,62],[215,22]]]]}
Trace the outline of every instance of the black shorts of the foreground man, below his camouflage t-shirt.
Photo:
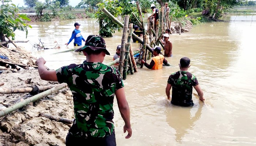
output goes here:
{"type": "Polygon", "coordinates": [[[115,132],[107,137],[73,137],[69,132],[66,137],[66,146],[83,146],[95,145],[95,146],[116,146],[116,135],[115,132]]]}

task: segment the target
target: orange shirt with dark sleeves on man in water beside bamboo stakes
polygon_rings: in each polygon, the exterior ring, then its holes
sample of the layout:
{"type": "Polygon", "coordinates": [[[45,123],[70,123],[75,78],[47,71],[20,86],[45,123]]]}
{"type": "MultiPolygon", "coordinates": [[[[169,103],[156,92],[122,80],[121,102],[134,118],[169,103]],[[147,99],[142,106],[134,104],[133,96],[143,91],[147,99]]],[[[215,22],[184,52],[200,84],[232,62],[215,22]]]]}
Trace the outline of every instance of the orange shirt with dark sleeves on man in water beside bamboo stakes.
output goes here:
{"type": "Polygon", "coordinates": [[[144,63],[144,65],[148,69],[161,69],[163,67],[163,64],[167,64],[167,60],[165,59],[165,57],[163,57],[162,54],[153,57],[150,64],[147,64],[146,62],[144,63]]]}

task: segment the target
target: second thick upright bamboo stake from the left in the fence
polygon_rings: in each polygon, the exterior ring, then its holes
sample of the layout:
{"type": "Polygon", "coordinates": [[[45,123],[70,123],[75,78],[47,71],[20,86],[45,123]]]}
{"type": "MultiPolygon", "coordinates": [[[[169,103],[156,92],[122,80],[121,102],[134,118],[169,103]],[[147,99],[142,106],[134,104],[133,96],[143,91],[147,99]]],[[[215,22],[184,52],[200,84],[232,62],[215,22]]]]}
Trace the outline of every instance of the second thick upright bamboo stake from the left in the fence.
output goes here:
{"type": "MultiPolygon", "coordinates": [[[[126,15],[125,15],[126,17],[126,15]]],[[[128,18],[128,22],[129,22],[129,16],[128,18]]],[[[128,41],[127,41],[127,45],[126,45],[126,49],[125,49],[125,61],[124,61],[124,72],[123,72],[123,80],[126,79],[127,76],[127,70],[128,70],[128,60],[129,60],[129,51],[130,51],[130,45],[131,45],[131,40],[132,40],[132,26],[133,24],[129,24],[129,35],[128,35],[128,41]]]]}

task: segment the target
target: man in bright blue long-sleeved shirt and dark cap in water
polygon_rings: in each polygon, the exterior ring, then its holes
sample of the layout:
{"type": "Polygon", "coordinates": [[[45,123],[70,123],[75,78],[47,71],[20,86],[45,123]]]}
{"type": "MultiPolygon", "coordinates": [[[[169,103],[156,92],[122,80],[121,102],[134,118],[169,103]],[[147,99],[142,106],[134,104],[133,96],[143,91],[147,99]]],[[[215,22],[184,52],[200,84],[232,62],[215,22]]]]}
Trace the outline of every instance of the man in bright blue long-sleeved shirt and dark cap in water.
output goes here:
{"type": "Polygon", "coordinates": [[[81,35],[81,31],[79,30],[81,24],[78,24],[77,22],[74,24],[75,29],[72,32],[71,38],[69,39],[68,43],[65,43],[65,45],[68,45],[73,39],[74,39],[74,46],[81,46],[82,40],[85,41],[83,36],[81,35]]]}

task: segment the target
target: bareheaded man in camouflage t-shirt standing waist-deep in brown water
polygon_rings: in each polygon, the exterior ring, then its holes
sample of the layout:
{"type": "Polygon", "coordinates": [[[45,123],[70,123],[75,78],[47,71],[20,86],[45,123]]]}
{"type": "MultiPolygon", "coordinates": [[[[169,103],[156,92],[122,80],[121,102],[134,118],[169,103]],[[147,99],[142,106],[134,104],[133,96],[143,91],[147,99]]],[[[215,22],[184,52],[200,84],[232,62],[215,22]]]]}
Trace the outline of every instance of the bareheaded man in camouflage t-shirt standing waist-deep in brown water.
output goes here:
{"type": "Polygon", "coordinates": [[[188,72],[190,67],[190,59],[183,57],[180,59],[180,71],[172,73],[167,81],[165,89],[167,99],[172,99],[171,103],[184,107],[193,106],[192,89],[196,89],[200,100],[204,100],[203,91],[198,84],[196,77],[188,72]],[[170,89],[172,89],[172,96],[170,96],[170,89]]]}

